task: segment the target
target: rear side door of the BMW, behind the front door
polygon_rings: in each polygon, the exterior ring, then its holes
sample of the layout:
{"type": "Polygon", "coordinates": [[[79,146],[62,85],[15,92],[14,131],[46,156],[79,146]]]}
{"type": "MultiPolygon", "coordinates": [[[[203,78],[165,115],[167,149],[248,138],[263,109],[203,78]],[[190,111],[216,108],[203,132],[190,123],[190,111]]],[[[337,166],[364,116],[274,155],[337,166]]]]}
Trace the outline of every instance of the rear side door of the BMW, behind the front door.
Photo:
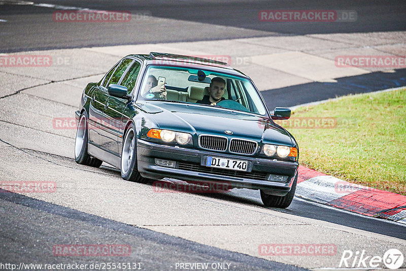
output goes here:
{"type": "Polygon", "coordinates": [[[122,61],[119,61],[112,67],[112,69],[105,75],[100,85],[97,85],[91,93],[88,116],[89,142],[96,145],[100,145],[100,125],[103,120],[103,109],[107,98],[109,97],[107,84],[121,62],[122,61]]]}

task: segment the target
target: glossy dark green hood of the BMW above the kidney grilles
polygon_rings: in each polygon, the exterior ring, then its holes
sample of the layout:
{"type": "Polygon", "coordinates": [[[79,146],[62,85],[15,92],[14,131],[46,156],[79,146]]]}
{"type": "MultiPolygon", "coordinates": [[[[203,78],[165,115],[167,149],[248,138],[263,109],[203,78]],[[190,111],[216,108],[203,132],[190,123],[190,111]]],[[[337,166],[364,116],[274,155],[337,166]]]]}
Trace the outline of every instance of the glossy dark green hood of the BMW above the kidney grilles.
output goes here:
{"type": "Polygon", "coordinates": [[[162,101],[140,106],[151,113],[160,129],[184,131],[197,136],[215,134],[229,139],[243,138],[264,144],[292,146],[289,133],[266,117],[216,107],[162,101]],[[226,134],[226,130],[232,134],[226,134]]]}

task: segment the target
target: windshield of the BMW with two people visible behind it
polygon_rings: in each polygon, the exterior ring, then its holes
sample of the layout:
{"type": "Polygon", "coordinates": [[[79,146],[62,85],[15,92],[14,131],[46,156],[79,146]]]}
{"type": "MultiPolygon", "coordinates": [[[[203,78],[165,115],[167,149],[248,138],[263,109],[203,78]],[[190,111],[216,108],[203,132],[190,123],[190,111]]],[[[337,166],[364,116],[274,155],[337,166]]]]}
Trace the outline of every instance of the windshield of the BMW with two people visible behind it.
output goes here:
{"type": "Polygon", "coordinates": [[[266,115],[257,90],[246,78],[207,70],[150,65],[138,100],[162,99],[266,115]],[[160,92],[163,84],[166,97],[160,92]]]}

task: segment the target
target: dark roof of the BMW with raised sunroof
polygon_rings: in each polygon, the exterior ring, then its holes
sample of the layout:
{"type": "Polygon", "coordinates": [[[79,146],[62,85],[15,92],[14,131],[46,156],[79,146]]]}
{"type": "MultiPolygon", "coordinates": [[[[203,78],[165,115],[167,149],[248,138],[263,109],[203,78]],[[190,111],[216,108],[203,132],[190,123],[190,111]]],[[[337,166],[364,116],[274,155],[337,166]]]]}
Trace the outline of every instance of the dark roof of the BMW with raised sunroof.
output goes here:
{"type": "Polygon", "coordinates": [[[194,57],[187,55],[150,52],[147,54],[131,54],[129,56],[137,57],[146,64],[155,64],[162,66],[193,67],[195,69],[208,69],[215,72],[238,75],[248,78],[244,73],[233,69],[228,63],[209,58],[194,57]]]}

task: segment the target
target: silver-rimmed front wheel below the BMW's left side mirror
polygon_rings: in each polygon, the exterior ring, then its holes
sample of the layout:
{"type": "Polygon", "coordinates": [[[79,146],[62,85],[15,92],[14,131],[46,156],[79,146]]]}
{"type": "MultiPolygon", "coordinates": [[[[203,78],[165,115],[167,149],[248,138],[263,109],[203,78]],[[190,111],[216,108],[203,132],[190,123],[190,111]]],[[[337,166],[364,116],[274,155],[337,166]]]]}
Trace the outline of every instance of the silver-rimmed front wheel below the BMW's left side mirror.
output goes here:
{"type": "Polygon", "coordinates": [[[138,172],[137,165],[137,137],[136,128],[131,123],[125,132],[120,161],[121,177],[124,180],[138,183],[149,183],[151,180],[144,178],[138,172]]]}

